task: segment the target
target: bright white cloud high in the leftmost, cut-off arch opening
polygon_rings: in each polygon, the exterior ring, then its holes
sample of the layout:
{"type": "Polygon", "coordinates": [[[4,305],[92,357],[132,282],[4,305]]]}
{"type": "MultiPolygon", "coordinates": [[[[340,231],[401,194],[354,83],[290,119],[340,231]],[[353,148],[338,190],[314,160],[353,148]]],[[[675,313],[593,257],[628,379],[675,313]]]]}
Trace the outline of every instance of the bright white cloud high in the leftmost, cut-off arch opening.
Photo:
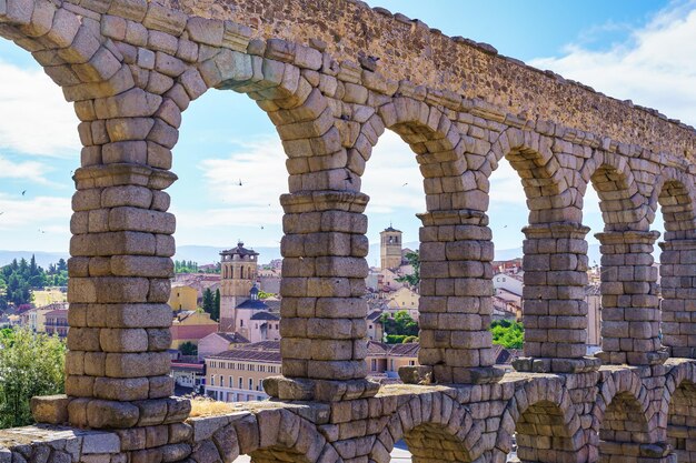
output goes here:
{"type": "Polygon", "coordinates": [[[72,104],[41,70],[0,61],[0,121],[3,148],[61,158],[81,148],[72,104]]]}

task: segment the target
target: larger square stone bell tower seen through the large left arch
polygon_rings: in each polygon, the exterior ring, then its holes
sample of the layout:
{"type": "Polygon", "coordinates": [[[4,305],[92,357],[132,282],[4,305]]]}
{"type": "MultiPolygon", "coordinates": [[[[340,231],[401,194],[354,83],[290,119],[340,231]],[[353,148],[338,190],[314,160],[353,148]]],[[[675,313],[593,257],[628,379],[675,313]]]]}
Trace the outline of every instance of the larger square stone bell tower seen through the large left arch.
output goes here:
{"type": "Polygon", "coordinates": [[[249,299],[256,281],[259,253],[246,249],[241,241],[237,248],[220,252],[220,331],[235,331],[235,309],[249,299]]]}

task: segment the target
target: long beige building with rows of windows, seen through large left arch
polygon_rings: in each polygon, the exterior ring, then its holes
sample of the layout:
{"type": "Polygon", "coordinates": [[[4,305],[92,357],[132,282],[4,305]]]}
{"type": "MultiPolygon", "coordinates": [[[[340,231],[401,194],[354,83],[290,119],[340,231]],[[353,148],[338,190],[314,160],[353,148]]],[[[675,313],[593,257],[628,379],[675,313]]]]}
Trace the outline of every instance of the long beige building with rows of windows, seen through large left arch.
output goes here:
{"type": "Polygon", "coordinates": [[[280,373],[280,342],[238,346],[206,359],[206,395],[222,402],[265,400],[264,380],[280,373]]]}

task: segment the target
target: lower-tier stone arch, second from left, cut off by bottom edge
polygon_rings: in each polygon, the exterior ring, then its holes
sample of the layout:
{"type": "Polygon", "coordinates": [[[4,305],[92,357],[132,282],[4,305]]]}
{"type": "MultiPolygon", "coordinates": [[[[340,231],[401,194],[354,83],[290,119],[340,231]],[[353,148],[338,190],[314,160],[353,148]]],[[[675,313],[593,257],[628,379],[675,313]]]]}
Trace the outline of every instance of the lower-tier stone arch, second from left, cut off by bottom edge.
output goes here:
{"type": "Polygon", "coordinates": [[[377,436],[370,461],[389,463],[396,442],[404,439],[414,462],[479,462],[485,451],[484,426],[471,412],[449,395],[418,394],[398,407],[377,436]]]}

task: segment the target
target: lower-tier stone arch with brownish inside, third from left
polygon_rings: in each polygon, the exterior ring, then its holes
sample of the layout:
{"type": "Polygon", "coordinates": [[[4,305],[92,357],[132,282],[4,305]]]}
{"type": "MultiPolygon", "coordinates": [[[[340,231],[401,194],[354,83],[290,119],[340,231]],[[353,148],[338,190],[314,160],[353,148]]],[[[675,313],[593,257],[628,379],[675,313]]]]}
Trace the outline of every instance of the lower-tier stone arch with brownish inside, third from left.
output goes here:
{"type": "Polygon", "coordinates": [[[585,433],[570,394],[559,381],[531,379],[510,400],[496,449],[507,454],[516,435],[521,462],[576,462],[587,455],[585,433]]]}

